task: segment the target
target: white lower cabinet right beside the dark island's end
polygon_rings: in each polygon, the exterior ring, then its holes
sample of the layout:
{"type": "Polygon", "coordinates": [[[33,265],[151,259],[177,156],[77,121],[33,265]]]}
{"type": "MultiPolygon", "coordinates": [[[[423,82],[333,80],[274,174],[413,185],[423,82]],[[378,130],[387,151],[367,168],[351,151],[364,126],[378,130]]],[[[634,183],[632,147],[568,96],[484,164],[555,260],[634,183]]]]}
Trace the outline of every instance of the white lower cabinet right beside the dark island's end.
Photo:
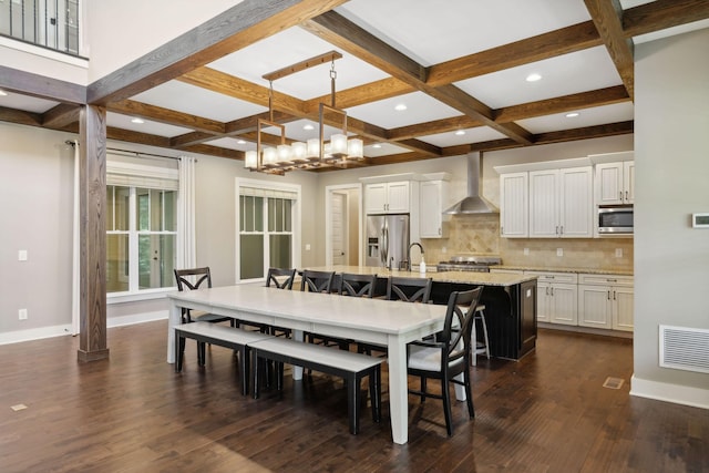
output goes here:
{"type": "Polygon", "coordinates": [[[537,277],[536,319],[575,326],[578,321],[578,275],[575,273],[524,271],[537,277]]]}

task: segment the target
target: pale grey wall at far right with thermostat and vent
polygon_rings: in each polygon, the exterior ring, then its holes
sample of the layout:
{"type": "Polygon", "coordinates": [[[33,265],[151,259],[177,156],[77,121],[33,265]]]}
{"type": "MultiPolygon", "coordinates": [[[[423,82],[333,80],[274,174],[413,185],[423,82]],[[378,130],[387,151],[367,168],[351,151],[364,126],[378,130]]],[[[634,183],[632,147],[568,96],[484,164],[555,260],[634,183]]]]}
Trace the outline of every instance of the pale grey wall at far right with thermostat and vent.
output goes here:
{"type": "Polygon", "coordinates": [[[658,326],[709,329],[709,29],[635,49],[633,392],[709,408],[709,376],[659,368],[658,326]],[[696,391],[695,391],[696,389],[696,391]]]}

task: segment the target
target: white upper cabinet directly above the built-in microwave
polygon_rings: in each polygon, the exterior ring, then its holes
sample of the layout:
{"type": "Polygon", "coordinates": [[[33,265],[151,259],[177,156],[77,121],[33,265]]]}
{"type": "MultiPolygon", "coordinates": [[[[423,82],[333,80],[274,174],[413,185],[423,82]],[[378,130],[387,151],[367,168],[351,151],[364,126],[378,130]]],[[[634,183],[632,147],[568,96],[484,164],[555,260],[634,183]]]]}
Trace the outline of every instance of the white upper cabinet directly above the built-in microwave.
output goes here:
{"type": "Polygon", "coordinates": [[[635,202],[635,161],[633,152],[594,154],[596,164],[596,205],[635,202]]]}

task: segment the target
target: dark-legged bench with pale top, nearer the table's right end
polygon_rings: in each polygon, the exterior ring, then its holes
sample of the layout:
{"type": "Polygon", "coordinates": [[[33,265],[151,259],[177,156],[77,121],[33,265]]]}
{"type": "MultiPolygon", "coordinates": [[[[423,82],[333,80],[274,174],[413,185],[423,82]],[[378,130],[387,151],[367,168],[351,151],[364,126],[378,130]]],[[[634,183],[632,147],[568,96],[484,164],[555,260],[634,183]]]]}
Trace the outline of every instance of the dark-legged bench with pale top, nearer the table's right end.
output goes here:
{"type": "Polygon", "coordinates": [[[286,338],[257,340],[249,345],[254,372],[254,399],[259,391],[259,358],[277,362],[277,389],[282,389],[282,363],[309,368],[346,380],[347,411],[350,433],[359,432],[360,381],[369,376],[372,419],[381,420],[381,358],[337,350],[321,345],[304,343],[286,338]]]}

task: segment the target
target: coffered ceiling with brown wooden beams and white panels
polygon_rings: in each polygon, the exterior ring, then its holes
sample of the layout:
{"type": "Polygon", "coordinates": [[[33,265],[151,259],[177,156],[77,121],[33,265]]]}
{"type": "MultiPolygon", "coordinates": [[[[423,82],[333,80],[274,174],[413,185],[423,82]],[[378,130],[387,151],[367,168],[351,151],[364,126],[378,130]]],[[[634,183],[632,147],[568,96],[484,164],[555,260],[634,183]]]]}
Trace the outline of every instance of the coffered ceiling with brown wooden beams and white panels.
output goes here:
{"type": "MultiPolygon", "coordinates": [[[[229,24],[220,35],[197,29],[91,84],[85,103],[106,107],[107,137],[243,160],[268,115],[263,76],[329,51],[342,54],[337,106],[364,140],[364,165],[627,134],[634,43],[709,25],[703,0],[266,3],[244,1],[216,19],[229,24]],[[174,51],[183,52],[151,69],[174,51]],[[541,79],[527,82],[533,73],[541,79]]],[[[289,138],[317,137],[331,68],[273,81],[289,138]]],[[[76,101],[23,90],[8,74],[0,120],[78,131],[76,101]]]]}

